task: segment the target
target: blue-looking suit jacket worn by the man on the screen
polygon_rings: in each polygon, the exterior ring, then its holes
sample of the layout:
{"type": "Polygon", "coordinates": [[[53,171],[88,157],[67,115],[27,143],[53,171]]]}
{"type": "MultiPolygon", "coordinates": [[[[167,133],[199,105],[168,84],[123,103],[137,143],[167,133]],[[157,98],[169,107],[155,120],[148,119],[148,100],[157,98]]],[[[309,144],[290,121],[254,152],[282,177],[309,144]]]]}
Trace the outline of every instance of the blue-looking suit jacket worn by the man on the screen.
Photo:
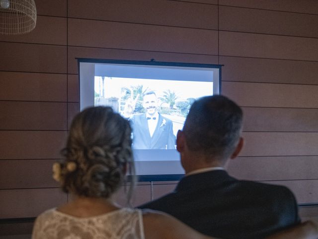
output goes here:
{"type": "Polygon", "coordinates": [[[136,114],[130,119],[133,128],[135,149],[175,149],[172,121],[159,114],[157,127],[152,137],[148,129],[146,114],[136,114]]]}

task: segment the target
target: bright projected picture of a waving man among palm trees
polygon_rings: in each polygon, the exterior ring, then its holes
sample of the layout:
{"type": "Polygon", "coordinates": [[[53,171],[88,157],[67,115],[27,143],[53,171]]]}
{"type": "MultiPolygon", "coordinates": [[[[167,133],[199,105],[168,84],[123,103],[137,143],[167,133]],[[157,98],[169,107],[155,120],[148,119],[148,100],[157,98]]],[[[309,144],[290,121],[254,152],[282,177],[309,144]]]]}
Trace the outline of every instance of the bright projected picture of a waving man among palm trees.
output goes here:
{"type": "Polygon", "coordinates": [[[94,105],[110,106],[130,120],[134,149],[175,149],[191,104],[213,94],[213,82],[94,78],[94,105]]]}

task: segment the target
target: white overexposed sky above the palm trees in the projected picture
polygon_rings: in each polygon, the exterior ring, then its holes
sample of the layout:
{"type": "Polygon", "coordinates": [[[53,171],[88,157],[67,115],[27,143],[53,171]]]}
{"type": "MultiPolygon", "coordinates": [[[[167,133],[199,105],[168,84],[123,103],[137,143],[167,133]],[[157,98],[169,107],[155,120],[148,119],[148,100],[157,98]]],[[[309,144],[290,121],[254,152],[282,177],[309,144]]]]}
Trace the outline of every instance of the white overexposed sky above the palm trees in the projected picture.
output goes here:
{"type": "MultiPolygon", "coordinates": [[[[101,77],[95,76],[95,92],[100,92],[101,77]]],[[[178,97],[177,100],[186,100],[187,98],[199,98],[213,94],[213,82],[200,81],[174,81],[174,80],[153,80],[153,79],[135,79],[135,78],[104,78],[104,96],[105,98],[120,98],[123,94],[122,88],[136,87],[143,85],[143,90],[155,91],[157,97],[162,97],[163,92],[170,90],[178,97]]]]}

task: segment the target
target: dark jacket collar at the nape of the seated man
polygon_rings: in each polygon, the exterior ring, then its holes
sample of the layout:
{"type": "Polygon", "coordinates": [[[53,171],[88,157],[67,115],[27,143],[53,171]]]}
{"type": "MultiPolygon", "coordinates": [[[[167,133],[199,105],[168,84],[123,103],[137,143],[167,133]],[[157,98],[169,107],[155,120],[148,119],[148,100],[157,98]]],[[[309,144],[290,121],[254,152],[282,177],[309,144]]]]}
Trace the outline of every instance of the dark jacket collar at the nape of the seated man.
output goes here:
{"type": "Polygon", "coordinates": [[[231,177],[225,170],[214,170],[185,176],[178,183],[175,190],[212,189],[229,181],[236,181],[236,179],[231,177]]]}

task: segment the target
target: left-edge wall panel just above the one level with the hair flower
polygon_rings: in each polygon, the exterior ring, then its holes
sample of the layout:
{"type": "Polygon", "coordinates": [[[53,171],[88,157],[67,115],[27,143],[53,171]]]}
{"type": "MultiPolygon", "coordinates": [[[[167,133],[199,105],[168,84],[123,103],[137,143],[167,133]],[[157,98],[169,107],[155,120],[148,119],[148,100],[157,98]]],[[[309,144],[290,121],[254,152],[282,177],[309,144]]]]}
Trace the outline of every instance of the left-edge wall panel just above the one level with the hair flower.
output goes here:
{"type": "Polygon", "coordinates": [[[66,131],[0,131],[0,159],[60,158],[66,131]]]}

